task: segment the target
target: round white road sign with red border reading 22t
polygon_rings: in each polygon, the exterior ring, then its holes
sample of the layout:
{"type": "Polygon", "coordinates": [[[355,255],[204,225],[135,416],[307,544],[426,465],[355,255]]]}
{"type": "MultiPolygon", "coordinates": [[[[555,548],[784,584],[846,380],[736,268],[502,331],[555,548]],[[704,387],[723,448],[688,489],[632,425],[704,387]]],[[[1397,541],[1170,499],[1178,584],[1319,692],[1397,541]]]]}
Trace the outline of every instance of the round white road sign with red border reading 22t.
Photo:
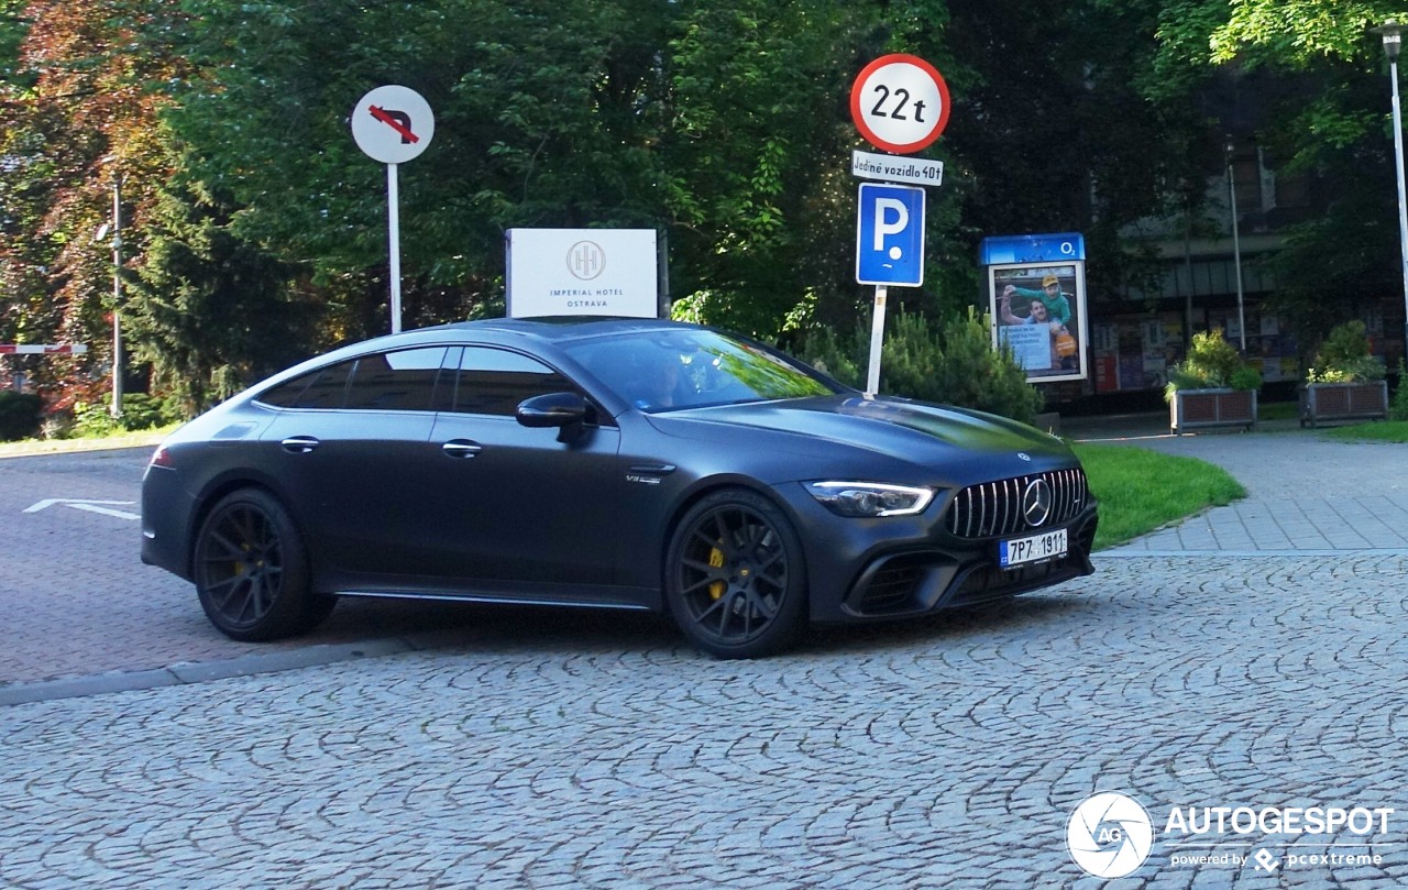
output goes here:
{"type": "Polygon", "coordinates": [[[880,56],[862,69],[850,87],[850,118],[872,145],[908,155],[943,132],[949,86],[919,56],[880,56]]]}

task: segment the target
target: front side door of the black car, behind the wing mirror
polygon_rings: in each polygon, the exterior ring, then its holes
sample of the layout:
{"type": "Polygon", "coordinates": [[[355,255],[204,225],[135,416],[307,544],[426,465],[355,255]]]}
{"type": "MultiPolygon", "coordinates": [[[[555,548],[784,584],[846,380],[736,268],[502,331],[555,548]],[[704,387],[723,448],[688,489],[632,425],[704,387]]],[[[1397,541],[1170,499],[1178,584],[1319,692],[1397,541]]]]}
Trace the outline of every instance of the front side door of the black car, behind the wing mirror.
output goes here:
{"type": "Polygon", "coordinates": [[[429,566],[484,590],[615,583],[620,431],[604,413],[574,431],[515,420],[524,399],[580,391],[528,355],[465,346],[452,410],[431,434],[436,459],[425,503],[429,566]]]}

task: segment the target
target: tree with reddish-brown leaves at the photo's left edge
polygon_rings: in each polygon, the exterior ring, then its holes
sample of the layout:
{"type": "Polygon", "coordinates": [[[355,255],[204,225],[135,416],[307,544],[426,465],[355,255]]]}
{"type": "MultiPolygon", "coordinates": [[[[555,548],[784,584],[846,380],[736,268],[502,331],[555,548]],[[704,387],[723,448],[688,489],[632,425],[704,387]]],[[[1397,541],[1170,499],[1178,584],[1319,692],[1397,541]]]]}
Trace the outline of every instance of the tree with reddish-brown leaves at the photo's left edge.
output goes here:
{"type": "Polygon", "coordinates": [[[32,0],[7,4],[0,84],[0,337],[92,344],[86,359],[32,366],[49,384],[86,384],[111,365],[113,268],[94,238],[122,182],[124,248],[141,251],[146,197],[165,170],[148,84],[172,58],[134,52],[159,4],[142,0],[32,0]],[[15,44],[17,41],[17,44],[15,44]]]}

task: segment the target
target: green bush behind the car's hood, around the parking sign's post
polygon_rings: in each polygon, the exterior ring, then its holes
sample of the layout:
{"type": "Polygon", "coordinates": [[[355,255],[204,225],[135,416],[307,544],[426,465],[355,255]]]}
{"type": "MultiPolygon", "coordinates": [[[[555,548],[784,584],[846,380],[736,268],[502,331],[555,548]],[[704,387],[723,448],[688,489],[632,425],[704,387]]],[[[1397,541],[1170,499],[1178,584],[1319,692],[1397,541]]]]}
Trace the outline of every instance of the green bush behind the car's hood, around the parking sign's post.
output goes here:
{"type": "MultiPolygon", "coordinates": [[[[812,331],[803,358],[835,379],[865,389],[870,366],[870,325],[849,337],[812,331]]],[[[931,325],[924,315],[895,313],[886,325],[880,390],[921,401],[952,404],[1032,422],[1045,397],[1026,382],[1010,351],[993,349],[984,315],[950,315],[931,325]]]]}

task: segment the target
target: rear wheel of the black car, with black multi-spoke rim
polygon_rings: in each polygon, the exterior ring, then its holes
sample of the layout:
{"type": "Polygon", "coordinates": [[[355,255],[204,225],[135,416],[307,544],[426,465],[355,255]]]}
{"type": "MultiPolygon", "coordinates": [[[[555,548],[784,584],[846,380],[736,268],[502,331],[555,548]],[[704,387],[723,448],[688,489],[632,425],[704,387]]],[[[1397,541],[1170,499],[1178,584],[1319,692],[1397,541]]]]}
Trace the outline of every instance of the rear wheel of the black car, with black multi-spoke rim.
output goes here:
{"type": "Polygon", "coordinates": [[[303,537],[263,489],[241,489],[215,504],[196,538],[193,572],[206,617],[231,639],[303,634],[337,606],[337,597],[313,593],[303,537]]]}

